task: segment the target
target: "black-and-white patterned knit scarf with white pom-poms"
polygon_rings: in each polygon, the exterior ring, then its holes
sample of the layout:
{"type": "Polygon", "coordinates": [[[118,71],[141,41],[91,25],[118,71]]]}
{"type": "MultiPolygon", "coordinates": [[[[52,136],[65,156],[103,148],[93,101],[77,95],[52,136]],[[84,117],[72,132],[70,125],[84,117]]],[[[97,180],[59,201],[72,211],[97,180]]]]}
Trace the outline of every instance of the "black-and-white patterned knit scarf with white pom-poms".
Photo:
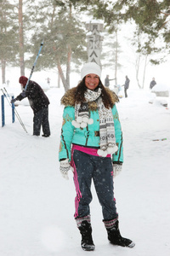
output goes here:
{"type": "Polygon", "coordinates": [[[88,90],[84,94],[86,102],[76,103],[75,105],[75,120],[72,120],[72,125],[76,128],[85,128],[87,125],[92,125],[94,119],[89,118],[88,102],[97,102],[99,112],[99,137],[100,148],[99,156],[105,157],[107,154],[114,154],[117,150],[115,127],[111,108],[105,108],[101,98],[101,89],[88,90]]]}

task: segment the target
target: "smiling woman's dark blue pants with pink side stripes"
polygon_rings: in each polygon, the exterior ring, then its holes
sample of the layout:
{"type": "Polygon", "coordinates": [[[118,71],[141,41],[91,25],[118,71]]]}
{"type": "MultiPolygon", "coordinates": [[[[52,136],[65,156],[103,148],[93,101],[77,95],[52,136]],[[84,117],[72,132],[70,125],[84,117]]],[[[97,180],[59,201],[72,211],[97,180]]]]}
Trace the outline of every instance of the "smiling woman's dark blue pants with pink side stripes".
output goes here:
{"type": "Polygon", "coordinates": [[[92,180],[94,181],[94,187],[102,207],[104,220],[117,218],[111,158],[74,150],[72,163],[74,183],[77,191],[75,218],[82,218],[90,214],[89,204],[93,198],[91,193],[92,180]]]}

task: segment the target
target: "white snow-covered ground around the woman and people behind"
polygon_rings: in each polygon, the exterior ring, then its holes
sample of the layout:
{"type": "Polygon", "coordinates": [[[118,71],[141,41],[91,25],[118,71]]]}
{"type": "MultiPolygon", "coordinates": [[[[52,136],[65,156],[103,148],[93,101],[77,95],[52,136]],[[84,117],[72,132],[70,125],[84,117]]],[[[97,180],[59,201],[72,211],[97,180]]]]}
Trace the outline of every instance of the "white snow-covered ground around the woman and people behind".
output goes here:
{"type": "MultiPolygon", "coordinates": [[[[38,80],[36,80],[38,83],[38,80]]],[[[8,92],[17,96],[20,86],[8,92]]],[[[124,164],[115,179],[116,207],[122,236],[135,241],[133,249],[112,246],[102,223],[94,191],[91,203],[93,255],[170,255],[170,100],[161,106],[150,90],[129,89],[128,98],[117,104],[124,137],[124,164]],[[155,139],[167,138],[164,141],[155,139]]],[[[64,90],[46,91],[51,102],[51,137],[33,137],[32,110],[26,100],[16,107],[18,119],[11,122],[5,101],[6,125],[0,127],[0,255],[85,255],[74,214],[76,195],[72,175],[66,181],[59,173],[58,151],[62,123],[60,97],[64,90]]]]}

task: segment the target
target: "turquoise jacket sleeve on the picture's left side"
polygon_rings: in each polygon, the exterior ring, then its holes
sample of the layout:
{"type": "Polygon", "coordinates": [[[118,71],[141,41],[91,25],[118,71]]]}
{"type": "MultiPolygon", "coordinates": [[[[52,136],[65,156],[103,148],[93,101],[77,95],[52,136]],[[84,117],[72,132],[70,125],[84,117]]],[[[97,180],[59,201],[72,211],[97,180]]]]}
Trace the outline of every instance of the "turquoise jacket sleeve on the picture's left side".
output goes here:
{"type": "Polygon", "coordinates": [[[71,121],[75,119],[75,108],[65,107],[59,144],[59,160],[68,158],[71,161],[71,143],[75,127],[71,121]]]}

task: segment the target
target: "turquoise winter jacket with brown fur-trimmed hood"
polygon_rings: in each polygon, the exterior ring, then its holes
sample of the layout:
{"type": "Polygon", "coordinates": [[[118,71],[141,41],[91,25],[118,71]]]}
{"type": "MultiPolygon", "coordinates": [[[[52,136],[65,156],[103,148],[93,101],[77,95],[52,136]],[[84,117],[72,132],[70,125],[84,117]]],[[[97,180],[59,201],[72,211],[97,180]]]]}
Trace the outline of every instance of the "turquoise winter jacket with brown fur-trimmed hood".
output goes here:
{"type": "MultiPolygon", "coordinates": [[[[112,155],[113,162],[123,162],[123,148],[122,148],[122,128],[116,109],[115,103],[118,101],[114,92],[110,89],[106,89],[111,93],[112,101],[114,102],[112,113],[115,125],[116,145],[118,150],[112,155]]],[[[75,88],[67,90],[65,96],[62,97],[61,103],[65,105],[63,113],[63,124],[60,136],[59,145],[59,160],[68,158],[71,160],[71,144],[78,144],[85,147],[99,148],[99,113],[97,109],[97,103],[89,104],[90,119],[94,119],[92,125],[88,125],[86,128],[75,128],[71,124],[71,121],[75,119],[75,88]]]]}

